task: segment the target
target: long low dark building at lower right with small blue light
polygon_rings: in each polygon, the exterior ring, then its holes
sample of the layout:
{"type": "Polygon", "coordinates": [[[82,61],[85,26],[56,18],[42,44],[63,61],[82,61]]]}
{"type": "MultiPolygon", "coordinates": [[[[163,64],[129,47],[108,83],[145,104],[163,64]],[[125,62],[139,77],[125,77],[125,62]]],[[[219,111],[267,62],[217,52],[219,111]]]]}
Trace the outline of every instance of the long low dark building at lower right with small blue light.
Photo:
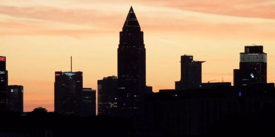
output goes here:
{"type": "Polygon", "coordinates": [[[274,103],[274,83],[162,90],[145,95],[144,126],[168,129],[171,136],[201,135],[208,133],[216,122],[227,116],[243,115],[253,121],[262,113],[265,105],[274,103]]]}

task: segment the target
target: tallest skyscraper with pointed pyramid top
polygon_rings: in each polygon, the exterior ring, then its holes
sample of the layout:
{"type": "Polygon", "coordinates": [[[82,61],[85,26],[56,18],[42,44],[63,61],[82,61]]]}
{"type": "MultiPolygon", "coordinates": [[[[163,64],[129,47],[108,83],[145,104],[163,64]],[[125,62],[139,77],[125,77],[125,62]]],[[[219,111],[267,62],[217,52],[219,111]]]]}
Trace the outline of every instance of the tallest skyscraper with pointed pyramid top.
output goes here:
{"type": "Polygon", "coordinates": [[[131,6],[119,32],[118,94],[119,115],[137,113],[146,93],[145,45],[143,31],[131,6]]]}

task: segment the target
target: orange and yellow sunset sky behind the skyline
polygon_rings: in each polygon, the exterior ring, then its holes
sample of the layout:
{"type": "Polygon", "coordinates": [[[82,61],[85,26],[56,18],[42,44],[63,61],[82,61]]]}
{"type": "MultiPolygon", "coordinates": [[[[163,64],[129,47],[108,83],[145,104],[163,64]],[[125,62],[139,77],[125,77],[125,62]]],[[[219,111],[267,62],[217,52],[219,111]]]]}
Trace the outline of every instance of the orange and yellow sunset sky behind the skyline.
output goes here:
{"type": "Polygon", "coordinates": [[[83,87],[117,76],[117,48],[130,6],[144,31],[146,84],[174,89],[180,56],[202,65],[202,81],[233,83],[239,53],[263,45],[275,82],[274,0],[1,0],[0,55],[9,85],[24,86],[24,111],[54,110],[54,72],[83,72],[83,87]]]}

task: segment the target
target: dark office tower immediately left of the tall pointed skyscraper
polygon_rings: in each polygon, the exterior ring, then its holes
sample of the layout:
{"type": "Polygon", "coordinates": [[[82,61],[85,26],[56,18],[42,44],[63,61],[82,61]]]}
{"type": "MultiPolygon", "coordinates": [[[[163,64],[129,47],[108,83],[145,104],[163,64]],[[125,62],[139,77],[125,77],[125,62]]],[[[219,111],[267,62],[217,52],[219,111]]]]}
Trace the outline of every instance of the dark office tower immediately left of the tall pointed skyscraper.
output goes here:
{"type": "Polygon", "coordinates": [[[117,115],[117,77],[108,76],[97,80],[98,115],[117,115]]]}

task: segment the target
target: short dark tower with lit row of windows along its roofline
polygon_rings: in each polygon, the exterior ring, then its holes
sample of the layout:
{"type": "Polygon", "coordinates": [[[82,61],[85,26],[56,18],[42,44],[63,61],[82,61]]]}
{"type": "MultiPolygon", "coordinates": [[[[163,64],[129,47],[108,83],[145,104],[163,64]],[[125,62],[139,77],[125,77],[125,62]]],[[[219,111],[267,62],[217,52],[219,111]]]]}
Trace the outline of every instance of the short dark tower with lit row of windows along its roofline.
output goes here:
{"type": "Polygon", "coordinates": [[[80,106],[80,116],[89,117],[96,115],[96,90],[92,88],[82,89],[82,103],[80,106]]]}

